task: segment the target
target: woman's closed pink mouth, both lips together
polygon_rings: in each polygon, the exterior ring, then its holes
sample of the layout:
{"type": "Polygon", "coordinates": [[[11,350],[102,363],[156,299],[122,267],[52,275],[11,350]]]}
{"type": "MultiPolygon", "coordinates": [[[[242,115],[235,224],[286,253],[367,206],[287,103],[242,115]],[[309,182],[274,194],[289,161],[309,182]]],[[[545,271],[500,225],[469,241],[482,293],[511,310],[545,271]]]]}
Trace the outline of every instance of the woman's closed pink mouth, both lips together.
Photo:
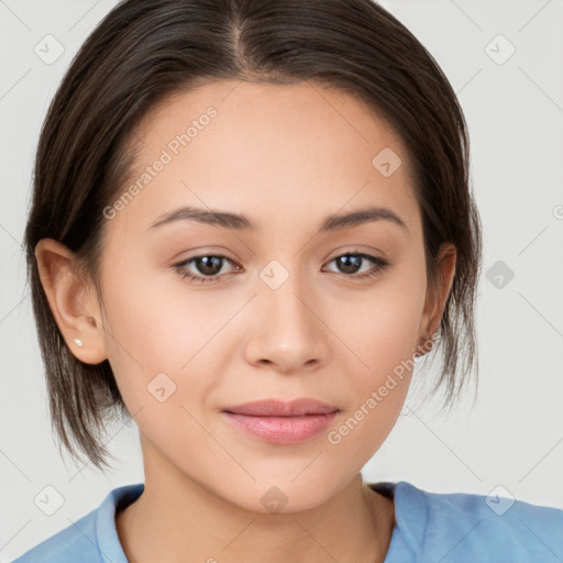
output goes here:
{"type": "Polygon", "coordinates": [[[289,402],[266,399],[221,411],[246,435],[277,444],[305,442],[324,430],[339,412],[333,405],[308,398],[289,402]]]}

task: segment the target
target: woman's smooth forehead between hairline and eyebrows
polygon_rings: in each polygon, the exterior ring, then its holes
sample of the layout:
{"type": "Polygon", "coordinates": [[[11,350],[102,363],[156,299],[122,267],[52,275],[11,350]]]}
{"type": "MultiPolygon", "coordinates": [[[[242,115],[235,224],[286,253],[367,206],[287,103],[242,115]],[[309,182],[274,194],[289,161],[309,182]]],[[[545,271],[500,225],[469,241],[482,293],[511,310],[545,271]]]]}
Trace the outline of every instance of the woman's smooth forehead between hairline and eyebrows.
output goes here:
{"type": "Polygon", "coordinates": [[[418,219],[401,139],[356,98],[318,84],[206,84],[166,97],[135,133],[128,185],[140,189],[120,216],[144,229],[177,205],[254,210],[261,228],[272,225],[264,213],[297,221],[303,209],[324,217],[366,203],[418,219]]]}

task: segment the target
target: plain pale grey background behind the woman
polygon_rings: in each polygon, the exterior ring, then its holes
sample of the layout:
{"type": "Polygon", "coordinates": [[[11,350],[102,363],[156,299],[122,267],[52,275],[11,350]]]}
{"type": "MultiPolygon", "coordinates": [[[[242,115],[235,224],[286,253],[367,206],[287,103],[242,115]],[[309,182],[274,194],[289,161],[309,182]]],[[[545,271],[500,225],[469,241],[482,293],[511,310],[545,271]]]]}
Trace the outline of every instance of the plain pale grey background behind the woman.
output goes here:
{"type": "MultiPolygon", "coordinates": [[[[420,405],[409,394],[404,415],[365,466],[365,481],[500,490],[563,508],[563,2],[380,3],[437,58],[470,125],[485,235],[482,374],[473,409],[471,393],[449,416],[438,401],[420,405]],[[505,60],[510,45],[516,51],[505,60]],[[508,268],[514,278],[498,287],[494,276],[508,268]]],[[[67,527],[111,488],[143,481],[134,426],[108,434],[121,460],[113,472],[60,459],[20,246],[47,104],[79,45],[113,4],[0,0],[0,562],[67,527]],[[34,52],[53,41],[44,40],[48,34],[64,47],[52,64],[34,52]],[[52,516],[34,501],[46,486],[63,500],[52,516]]]]}

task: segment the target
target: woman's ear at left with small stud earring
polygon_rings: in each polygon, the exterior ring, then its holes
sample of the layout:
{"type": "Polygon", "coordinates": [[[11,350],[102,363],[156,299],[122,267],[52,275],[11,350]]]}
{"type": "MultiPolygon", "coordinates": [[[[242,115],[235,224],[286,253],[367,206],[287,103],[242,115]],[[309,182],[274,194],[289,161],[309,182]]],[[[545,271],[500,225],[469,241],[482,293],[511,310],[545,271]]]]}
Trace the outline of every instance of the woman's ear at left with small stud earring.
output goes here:
{"type": "Polygon", "coordinates": [[[67,346],[86,364],[103,362],[108,356],[98,296],[91,280],[85,285],[78,278],[73,267],[74,253],[53,239],[42,239],[35,246],[35,258],[51,311],[67,346]]]}

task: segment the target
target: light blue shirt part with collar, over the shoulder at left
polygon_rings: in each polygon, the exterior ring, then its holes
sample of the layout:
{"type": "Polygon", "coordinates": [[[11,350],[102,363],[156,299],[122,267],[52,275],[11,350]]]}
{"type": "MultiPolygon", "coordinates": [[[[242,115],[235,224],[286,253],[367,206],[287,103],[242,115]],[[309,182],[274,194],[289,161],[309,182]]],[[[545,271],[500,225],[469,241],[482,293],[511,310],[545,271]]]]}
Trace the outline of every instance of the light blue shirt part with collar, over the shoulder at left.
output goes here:
{"type": "Polygon", "coordinates": [[[115,530],[115,509],[134,501],[142,483],[112,489],[86,516],[43,540],[12,563],[126,563],[115,530]]]}

